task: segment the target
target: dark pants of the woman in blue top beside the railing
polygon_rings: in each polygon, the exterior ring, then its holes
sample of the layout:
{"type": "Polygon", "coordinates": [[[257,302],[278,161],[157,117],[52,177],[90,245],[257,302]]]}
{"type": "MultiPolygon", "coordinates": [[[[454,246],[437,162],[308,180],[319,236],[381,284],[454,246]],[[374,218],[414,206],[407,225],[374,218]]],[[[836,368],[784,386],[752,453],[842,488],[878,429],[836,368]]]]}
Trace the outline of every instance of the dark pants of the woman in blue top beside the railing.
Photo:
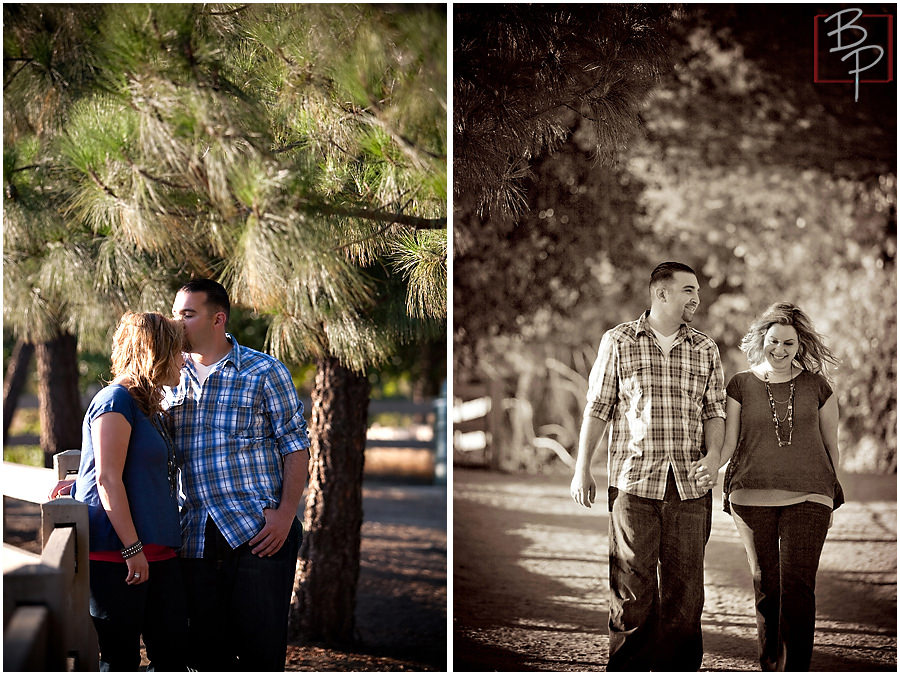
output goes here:
{"type": "Polygon", "coordinates": [[[187,607],[178,559],[150,563],[150,580],[137,586],[125,583],[124,562],[91,560],[90,567],[100,670],[138,670],[141,635],[153,670],[187,670],[187,607]]]}

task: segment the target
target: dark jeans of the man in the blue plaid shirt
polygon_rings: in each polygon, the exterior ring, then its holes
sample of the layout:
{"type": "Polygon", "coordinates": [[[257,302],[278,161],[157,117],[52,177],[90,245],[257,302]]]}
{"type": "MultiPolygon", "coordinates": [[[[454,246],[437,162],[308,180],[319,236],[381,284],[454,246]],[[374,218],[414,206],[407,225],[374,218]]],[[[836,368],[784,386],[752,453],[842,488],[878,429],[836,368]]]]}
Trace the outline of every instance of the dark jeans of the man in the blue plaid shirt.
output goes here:
{"type": "Polygon", "coordinates": [[[295,518],[281,550],[269,558],[232,549],[206,523],[203,558],[184,558],[190,617],[188,663],[201,671],[283,671],[287,619],[302,528],[295,518]]]}

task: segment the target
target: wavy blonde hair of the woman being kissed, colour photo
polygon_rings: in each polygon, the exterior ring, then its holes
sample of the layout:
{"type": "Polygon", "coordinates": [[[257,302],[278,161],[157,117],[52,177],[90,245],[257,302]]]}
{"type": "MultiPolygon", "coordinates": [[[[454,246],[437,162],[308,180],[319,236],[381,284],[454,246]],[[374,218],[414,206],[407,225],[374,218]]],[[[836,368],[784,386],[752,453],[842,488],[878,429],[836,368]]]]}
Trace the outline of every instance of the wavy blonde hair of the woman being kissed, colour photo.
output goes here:
{"type": "Polygon", "coordinates": [[[184,326],[156,312],[126,312],[113,336],[112,373],[148,417],[162,411],[163,381],[178,368],[184,326]]]}

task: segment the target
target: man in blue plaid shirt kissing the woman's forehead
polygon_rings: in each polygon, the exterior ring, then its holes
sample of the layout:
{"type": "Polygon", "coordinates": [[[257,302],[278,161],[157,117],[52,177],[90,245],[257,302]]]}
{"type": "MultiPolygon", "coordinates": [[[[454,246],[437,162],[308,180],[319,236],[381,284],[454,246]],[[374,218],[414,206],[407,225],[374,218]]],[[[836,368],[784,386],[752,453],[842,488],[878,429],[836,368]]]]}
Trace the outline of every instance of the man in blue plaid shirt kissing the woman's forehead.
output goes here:
{"type": "Polygon", "coordinates": [[[309,437],[288,369],[225,332],[225,289],[179,290],[189,343],[166,392],[181,470],[181,548],[198,670],[284,670],[309,437]]]}

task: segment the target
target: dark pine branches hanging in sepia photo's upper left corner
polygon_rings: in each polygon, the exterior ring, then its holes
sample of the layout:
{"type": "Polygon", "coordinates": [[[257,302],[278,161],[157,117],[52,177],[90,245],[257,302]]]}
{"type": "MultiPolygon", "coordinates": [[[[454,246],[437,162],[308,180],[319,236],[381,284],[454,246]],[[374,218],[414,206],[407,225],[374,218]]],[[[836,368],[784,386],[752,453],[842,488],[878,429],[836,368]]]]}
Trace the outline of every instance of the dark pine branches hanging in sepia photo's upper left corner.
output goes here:
{"type": "MultiPolygon", "coordinates": [[[[589,123],[612,160],[665,64],[667,5],[459,5],[454,8],[454,197],[515,219],[529,162],[589,123]]],[[[460,233],[456,247],[469,242],[460,233]]]]}

